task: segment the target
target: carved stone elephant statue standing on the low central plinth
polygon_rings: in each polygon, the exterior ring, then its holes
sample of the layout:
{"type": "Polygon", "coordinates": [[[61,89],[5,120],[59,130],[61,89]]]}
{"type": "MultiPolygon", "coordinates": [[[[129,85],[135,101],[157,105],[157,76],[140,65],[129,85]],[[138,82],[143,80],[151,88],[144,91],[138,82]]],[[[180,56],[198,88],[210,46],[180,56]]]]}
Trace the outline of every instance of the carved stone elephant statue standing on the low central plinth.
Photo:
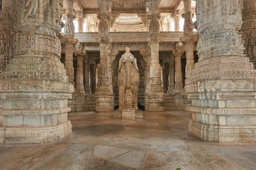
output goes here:
{"type": "Polygon", "coordinates": [[[138,89],[140,84],[140,74],[137,66],[137,59],[126,48],[126,52],[119,60],[118,74],[118,94],[119,111],[123,109],[138,110],[138,89]]]}

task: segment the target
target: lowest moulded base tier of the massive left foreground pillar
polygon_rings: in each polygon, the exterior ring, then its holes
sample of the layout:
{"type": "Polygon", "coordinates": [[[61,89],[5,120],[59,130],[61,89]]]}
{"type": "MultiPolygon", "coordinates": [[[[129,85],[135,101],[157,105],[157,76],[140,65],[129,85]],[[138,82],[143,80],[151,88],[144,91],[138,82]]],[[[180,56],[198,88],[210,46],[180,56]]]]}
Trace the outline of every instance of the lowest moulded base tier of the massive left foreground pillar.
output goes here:
{"type": "Polygon", "coordinates": [[[70,121],[51,127],[0,127],[0,144],[46,144],[72,133],[70,121]]]}

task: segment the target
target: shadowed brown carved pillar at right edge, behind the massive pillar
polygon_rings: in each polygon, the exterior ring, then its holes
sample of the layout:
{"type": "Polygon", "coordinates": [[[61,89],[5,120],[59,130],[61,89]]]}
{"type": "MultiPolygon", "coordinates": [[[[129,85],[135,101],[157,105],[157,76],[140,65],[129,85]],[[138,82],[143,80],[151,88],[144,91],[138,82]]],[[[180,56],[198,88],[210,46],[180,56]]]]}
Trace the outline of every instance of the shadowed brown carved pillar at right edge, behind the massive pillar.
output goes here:
{"type": "Polygon", "coordinates": [[[245,55],[256,69],[256,0],[243,0],[243,7],[241,31],[245,42],[245,55]]]}

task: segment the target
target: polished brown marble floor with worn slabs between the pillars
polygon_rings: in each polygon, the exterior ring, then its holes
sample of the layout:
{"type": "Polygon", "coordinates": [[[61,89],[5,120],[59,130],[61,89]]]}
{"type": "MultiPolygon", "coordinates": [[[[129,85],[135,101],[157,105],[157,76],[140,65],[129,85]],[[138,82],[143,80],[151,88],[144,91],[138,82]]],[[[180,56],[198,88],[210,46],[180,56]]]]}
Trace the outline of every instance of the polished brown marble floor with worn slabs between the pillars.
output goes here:
{"type": "Polygon", "coordinates": [[[0,145],[0,170],[256,170],[256,144],[215,144],[187,132],[185,111],[71,112],[70,137],[44,145],[0,145]]]}

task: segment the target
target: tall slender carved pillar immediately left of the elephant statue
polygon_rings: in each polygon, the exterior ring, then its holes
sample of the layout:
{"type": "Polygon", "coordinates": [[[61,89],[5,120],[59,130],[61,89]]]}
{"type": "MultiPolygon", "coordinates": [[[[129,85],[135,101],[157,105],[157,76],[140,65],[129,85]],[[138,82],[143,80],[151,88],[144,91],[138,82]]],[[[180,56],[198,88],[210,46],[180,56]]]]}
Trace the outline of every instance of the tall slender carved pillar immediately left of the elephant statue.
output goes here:
{"type": "Polygon", "coordinates": [[[113,93],[110,90],[110,80],[108,72],[108,19],[107,12],[112,2],[99,0],[99,48],[100,63],[98,65],[98,84],[95,92],[96,110],[99,112],[113,111],[113,93]]]}

